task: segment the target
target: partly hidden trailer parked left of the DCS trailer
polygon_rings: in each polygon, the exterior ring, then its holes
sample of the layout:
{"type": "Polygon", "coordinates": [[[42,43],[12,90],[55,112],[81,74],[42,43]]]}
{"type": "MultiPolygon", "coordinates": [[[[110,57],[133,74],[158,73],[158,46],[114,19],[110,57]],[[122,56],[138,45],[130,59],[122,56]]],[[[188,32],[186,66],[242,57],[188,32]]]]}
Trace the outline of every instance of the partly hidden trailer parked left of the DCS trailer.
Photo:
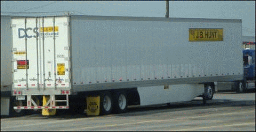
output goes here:
{"type": "MultiPolygon", "coordinates": [[[[14,116],[23,114],[24,110],[14,110],[21,100],[12,96],[12,36],[11,18],[19,16],[1,15],[1,116],[14,116]]],[[[21,17],[21,16],[20,16],[21,17]]]]}

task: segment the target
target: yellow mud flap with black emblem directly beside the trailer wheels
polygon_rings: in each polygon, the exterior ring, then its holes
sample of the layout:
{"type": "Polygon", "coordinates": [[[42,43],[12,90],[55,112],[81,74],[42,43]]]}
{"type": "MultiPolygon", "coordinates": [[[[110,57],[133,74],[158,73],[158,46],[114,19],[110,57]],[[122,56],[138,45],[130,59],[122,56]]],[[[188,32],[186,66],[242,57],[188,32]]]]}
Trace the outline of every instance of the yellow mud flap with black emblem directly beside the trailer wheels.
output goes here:
{"type": "Polygon", "coordinates": [[[87,96],[87,115],[99,115],[100,114],[100,96],[87,96]]]}

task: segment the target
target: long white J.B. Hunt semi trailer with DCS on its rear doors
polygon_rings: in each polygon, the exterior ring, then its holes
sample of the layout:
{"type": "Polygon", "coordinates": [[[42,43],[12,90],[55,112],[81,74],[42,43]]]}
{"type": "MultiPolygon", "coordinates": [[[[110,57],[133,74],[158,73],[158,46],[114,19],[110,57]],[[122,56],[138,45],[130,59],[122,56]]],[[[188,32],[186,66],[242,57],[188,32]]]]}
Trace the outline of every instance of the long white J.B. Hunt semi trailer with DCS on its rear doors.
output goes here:
{"type": "Polygon", "coordinates": [[[241,27],[241,19],[12,18],[11,94],[21,102],[13,108],[78,112],[100,95],[109,114],[212,99],[213,82],[243,79],[241,27]]]}

